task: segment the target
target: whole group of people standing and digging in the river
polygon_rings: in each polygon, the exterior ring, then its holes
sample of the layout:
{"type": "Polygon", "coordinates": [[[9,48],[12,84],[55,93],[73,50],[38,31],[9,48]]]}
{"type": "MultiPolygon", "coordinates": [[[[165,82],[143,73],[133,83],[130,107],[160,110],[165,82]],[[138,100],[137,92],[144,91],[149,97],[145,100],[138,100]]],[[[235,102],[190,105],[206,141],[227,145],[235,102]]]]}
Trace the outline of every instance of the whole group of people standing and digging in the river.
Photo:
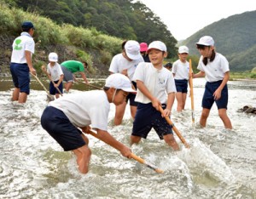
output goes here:
{"type": "MultiPolygon", "coordinates": [[[[34,52],[32,39],[35,30],[32,22],[22,24],[20,37],[15,39],[11,58],[10,71],[15,84],[13,100],[26,102],[29,94],[29,72],[36,74],[32,67],[31,56],[34,52]]],[[[163,66],[167,56],[166,44],[160,41],[137,43],[125,41],[122,43],[122,53],[113,57],[102,90],[92,90],[77,94],[68,94],[59,98],[62,91],[62,80],[71,88],[73,72],[84,72],[85,65],[78,61],[69,60],[59,65],[58,55],[49,54],[47,74],[50,81],[50,94],[56,94],[54,101],[44,109],[41,117],[42,127],[61,145],[64,151],[73,151],[81,173],[87,173],[91,151],[89,139],[85,134],[90,128],[96,130],[97,137],[108,145],[113,146],[125,157],[131,158],[131,149],[108,134],[108,112],[110,103],[116,105],[114,124],[119,125],[125,112],[125,105],[130,100],[131,116],[134,119],[131,132],[131,145],[146,139],[154,128],[160,139],[164,139],[173,150],[179,150],[172,133],[172,126],[166,122],[170,117],[175,95],[177,111],[184,109],[189,77],[206,77],[207,83],[202,99],[200,124],[206,127],[207,117],[215,102],[218,106],[219,117],[225,128],[232,128],[227,116],[228,88],[230,77],[229,63],[222,54],[214,49],[212,37],[201,37],[196,43],[201,58],[197,74],[189,74],[187,57],[189,48],[182,46],[178,49],[179,60],[173,63],[172,72],[163,66]],[[143,48],[143,49],[142,49],[143,48]],[[147,57],[143,57],[147,55],[147,57]],[[144,61],[143,58],[146,60],[144,61]],[[149,60],[147,60],[149,59],[149,60]],[[63,71],[64,70],[64,71],[63,71]],[[57,89],[58,88],[58,89],[57,89]],[[160,112],[163,109],[164,111],[160,112]]],[[[45,69],[45,68],[44,68],[45,69]]],[[[88,83],[85,74],[84,82],[88,83]]]]}

